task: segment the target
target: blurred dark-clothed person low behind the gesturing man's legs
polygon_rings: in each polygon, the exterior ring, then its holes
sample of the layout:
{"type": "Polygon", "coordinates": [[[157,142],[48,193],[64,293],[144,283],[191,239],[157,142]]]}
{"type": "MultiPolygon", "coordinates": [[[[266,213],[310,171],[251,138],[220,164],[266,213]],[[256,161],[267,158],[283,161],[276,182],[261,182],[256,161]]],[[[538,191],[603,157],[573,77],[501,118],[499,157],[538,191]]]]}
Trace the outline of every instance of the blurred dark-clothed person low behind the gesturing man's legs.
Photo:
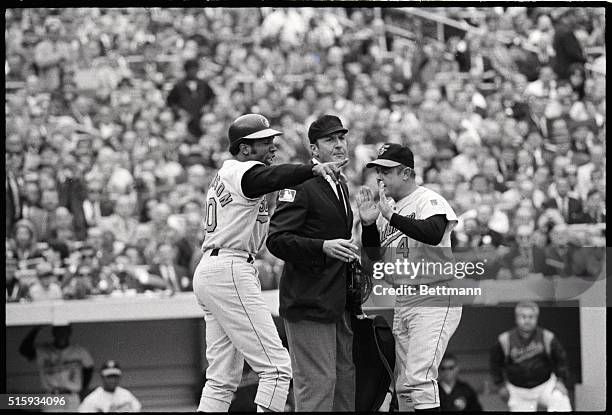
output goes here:
{"type": "Polygon", "coordinates": [[[446,353],[438,369],[440,375],[440,410],[442,412],[480,412],[478,395],[468,383],[458,379],[459,362],[452,353],[446,353]]]}

